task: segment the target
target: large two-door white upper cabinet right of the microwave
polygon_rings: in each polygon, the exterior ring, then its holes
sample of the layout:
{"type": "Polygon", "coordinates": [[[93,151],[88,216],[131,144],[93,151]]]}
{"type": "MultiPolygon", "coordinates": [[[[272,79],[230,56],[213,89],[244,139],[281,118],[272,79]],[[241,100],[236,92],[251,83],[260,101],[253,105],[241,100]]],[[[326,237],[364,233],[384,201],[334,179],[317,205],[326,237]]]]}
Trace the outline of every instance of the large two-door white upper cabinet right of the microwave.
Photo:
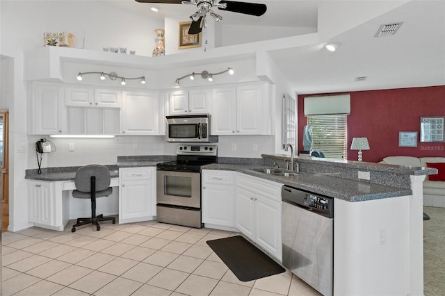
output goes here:
{"type": "Polygon", "coordinates": [[[213,89],[213,135],[270,135],[271,92],[268,83],[213,89]]]}

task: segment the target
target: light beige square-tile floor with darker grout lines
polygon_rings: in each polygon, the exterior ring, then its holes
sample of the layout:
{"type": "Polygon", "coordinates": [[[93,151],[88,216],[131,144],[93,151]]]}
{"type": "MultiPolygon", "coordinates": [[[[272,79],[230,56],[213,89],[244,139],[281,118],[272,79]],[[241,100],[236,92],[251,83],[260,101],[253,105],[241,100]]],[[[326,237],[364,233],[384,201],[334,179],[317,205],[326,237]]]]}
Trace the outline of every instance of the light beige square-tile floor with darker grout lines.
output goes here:
{"type": "Polygon", "coordinates": [[[291,272],[238,281],[206,244],[236,235],[156,221],[2,233],[2,294],[320,295],[291,272]]]}

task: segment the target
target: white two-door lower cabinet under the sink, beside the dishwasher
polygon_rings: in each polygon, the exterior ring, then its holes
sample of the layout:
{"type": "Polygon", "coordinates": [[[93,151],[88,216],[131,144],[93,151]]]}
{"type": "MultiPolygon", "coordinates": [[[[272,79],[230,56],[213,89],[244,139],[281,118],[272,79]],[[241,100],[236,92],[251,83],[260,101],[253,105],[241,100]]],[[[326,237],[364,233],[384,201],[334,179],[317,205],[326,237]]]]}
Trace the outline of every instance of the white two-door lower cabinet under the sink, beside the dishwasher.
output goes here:
{"type": "Polygon", "coordinates": [[[282,184],[236,175],[235,227],[282,260],[282,184]]]}

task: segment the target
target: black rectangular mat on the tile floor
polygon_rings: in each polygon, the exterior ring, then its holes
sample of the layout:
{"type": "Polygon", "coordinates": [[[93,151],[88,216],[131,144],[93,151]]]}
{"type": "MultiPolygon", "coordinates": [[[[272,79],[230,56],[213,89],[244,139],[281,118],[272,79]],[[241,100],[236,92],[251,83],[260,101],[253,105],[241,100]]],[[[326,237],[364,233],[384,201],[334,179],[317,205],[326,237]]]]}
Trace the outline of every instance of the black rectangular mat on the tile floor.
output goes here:
{"type": "Polygon", "coordinates": [[[280,264],[242,236],[207,240],[207,245],[240,281],[252,281],[285,271],[280,264]]]}

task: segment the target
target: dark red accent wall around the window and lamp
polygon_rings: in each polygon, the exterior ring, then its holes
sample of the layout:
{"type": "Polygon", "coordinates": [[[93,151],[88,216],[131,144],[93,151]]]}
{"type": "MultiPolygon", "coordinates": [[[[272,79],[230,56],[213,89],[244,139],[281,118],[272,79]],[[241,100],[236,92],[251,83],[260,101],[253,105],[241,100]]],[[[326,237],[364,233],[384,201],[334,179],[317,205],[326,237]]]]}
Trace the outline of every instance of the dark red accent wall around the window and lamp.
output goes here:
{"type": "MultiPolygon", "coordinates": [[[[419,142],[420,117],[445,117],[445,85],[349,93],[348,160],[357,161],[357,151],[349,149],[355,137],[368,138],[371,149],[363,151],[363,160],[368,162],[396,155],[445,157],[445,142],[419,142]],[[398,147],[399,131],[418,132],[417,147],[398,147]]],[[[305,94],[298,95],[298,151],[303,149],[302,133],[307,124],[304,98],[305,94]]]]}

